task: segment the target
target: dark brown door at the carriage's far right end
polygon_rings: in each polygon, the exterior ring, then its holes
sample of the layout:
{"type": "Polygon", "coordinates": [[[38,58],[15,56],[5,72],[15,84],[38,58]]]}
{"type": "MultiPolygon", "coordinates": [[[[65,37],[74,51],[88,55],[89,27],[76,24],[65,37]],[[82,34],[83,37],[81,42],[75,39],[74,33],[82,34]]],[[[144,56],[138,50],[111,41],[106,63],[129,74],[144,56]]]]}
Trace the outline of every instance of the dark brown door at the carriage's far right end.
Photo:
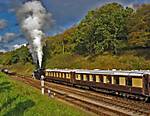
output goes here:
{"type": "Polygon", "coordinates": [[[143,78],[143,93],[145,95],[149,95],[150,87],[149,87],[149,75],[144,75],[143,78]]]}

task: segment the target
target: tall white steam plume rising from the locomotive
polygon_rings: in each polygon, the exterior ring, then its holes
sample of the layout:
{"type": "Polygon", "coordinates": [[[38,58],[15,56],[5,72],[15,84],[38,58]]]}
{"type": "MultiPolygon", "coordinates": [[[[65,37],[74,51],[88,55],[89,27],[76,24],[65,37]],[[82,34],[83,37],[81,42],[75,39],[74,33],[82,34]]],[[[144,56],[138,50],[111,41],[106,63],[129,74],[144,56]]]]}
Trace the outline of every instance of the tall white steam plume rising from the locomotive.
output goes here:
{"type": "Polygon", "coordinates": [[[42,66],[44,31],[51,27],[53,20],[40,1],[28,1],[17,10],[22,31],[30,44],[33,61],[42,66]]]}

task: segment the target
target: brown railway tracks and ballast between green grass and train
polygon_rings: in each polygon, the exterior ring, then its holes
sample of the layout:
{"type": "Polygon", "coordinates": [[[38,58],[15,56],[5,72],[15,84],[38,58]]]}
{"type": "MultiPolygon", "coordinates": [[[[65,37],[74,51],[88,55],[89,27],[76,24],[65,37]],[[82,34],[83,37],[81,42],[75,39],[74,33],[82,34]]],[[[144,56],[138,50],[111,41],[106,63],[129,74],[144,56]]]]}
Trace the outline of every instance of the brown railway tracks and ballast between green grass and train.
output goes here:
{"type": "MultiPolygon", "coordinates": [[[[19,77],[21,78],[16,77],[15,79],[41,89],[40,81],[19,77]]],[[[57,98],[80,106],[96,115],[150,116],[150,104],[45,82],[45,92],[48,89],[55,93],[57,98]]]]}

